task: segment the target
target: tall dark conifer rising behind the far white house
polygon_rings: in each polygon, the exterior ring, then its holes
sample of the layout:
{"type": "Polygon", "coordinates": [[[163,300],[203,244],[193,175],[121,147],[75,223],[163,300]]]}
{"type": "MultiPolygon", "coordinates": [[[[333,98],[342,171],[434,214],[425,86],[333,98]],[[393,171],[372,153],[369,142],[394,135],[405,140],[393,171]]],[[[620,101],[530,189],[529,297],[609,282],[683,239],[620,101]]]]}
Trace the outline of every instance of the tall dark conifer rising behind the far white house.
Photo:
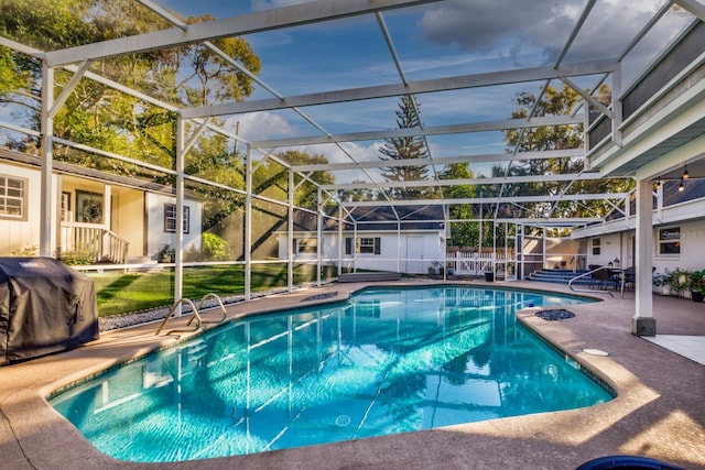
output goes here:
{"type": "MultiPolygon", "coordinates": [[[[419,117],[419,103],[416,98],[411,95],[401,97],[399,110],[397,111],[397,125],[399,129],[421,128],[421,119],[419,117]]],[[[426,159],[429,152],[423,138],[403,136],[388,139],[383,147],[379,149],[383,155],[380,160],[412,160],[426,159]]],[[[382,167],[382,177],[388,182],[415,182],[429,179],[429,167],[425,165],[410,166],[388,166],[382,167]]],[[[417,187],[399,187],[392,188],[390,194],[395,199],[417,199],[430,196],[430,189],[417,187]]]]}

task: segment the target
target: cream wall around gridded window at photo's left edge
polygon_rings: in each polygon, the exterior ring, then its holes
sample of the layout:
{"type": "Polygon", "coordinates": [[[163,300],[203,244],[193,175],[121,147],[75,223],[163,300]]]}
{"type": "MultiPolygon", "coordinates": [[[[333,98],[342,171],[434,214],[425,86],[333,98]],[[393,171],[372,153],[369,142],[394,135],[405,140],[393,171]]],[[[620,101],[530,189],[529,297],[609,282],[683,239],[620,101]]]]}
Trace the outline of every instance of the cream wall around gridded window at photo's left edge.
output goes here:
{"type": "MultiPolygon", "coordinates": [[[[18,165],[0,163],[0,175],[26,179],[26,218],[24,220],[11,220],[0,217],[0,256],[9,256],[17,250],[40,245],[40,206],[42,197],[41,173],[36,170],[18,165]]],[[[53,186],[57,186],[56,175],[52,176],[53,186]]],[[[52,204],[56,205],[57,199],[54,194],[52,204]]],[[[56,218],[52,217],[52,223],[56,223],[56,218]]],[[[55,247],[55,239],[52,240],[55,247]]],[[[39,254],[39,252],[36,253],[39,254]]]]}

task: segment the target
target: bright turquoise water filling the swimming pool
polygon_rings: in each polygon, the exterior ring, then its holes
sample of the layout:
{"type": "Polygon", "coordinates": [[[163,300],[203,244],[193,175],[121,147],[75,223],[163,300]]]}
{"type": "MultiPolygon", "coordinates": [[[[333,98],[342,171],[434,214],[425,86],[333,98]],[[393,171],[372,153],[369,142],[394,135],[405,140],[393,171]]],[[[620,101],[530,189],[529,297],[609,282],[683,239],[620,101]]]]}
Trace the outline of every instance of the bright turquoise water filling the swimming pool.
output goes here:
{"type": "Polygon", "coordinates": [[[104,453],[144,462],[590,406],[612,396],[513,315],[579,302],[466,286],[368,289],[226,324],[51,403],[104,453]]]}

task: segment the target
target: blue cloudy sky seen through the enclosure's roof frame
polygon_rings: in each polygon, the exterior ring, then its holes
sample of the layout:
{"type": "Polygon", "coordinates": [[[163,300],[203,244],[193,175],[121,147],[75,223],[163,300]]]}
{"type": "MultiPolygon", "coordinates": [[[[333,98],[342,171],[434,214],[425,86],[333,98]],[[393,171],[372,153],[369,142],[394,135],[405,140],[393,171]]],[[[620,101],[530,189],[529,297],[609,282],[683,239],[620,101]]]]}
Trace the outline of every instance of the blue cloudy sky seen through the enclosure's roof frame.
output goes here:
{"type": "MultiPolygon", "coordinates": [[[[154,0],[184,17],[227,18],[301,0],[154,0]]],[[[403,72],[411,81],[438,77],[553,65],[583,12],[587,0],[446,0],[383,13],[403,72]]],[[[663,0],[598,0],[582,33],[563,63],[615,57],[648,22],[663,0]]],[[[669,13],[625,59],[629,83],[636,70],[692,17],[669,13]]],[[[261,59],[262,80],[284,96],[397,84],[398,70],[373,15],[299,26],[246,36],[261,59]]],[[[597,77],[586,77],[590,87],[597,77]]],[[[542,83],[485,87],[419,96],[425,125],[509,119],[519,91],[538,92],[542,83]]],[[[553,84],[562,86],[561,84],[553,84]]],[[[272,98],[257,87],[250,99],[272,98]]],[[[397,127],[399,99],[378,99],[303,111],[329,133],[360,132],[397,127]]],[[[0,110],[1,113],[1,110],[0,110]]],[[[2,116],[0,116],[0,119],[2,116]]],[[[227,117],[227,125],[249,140],[319,135],[319,131],[291,110],[227,117]]],[[[341,145],[358,161],[379,157],[383,142],[341,145]]],[[[500,132],[429,138],[434,157],[501,153],[500,132]]],[[[347,161],[336,145],[315,145],[308,153],[329,161],[347,161]]],[[[487,168],[474,168],[487,174],[487,168]]]]}

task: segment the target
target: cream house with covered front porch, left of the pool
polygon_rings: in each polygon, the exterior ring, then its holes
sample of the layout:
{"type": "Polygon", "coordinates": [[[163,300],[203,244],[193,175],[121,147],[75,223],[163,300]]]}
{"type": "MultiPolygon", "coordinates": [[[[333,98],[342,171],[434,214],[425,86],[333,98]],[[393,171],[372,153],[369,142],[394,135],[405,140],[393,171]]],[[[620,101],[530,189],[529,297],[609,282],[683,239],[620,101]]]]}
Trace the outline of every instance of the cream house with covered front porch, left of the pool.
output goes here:
{"type": "MultiPolygon", "coordinates": [[[[88,252],[93,262],[160,261],[176,233],[170,187],[54,162],[52,255],[88,252]]],[[[0,256],[40,243],[40,160],[0,147],[0,256]]],[[[184,247],[200,249],[203,201],[184,203],[184,247]]],[[[37,254],[37,253],[33,253],[37,254]]]]}

